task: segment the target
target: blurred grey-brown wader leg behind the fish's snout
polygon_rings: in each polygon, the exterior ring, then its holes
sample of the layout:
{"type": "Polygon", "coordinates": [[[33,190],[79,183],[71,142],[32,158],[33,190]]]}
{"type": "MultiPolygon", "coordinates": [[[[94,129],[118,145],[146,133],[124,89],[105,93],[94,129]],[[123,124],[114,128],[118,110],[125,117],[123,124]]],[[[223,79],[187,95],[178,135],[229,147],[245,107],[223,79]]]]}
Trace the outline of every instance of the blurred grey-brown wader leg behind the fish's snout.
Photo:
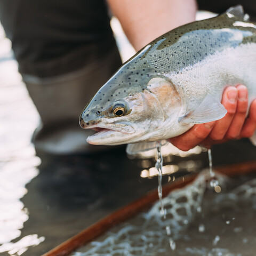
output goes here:
{"type": "Polygon", "coordinates": [[[104,57],[70,74],[48,78],[22,76],[41,116],[41,125],[33,136],[37,152],[93,153],[105,148],[89,146],[86,138],[92,131],[81,129],[78,119],[87,102],[120,65],[114,47],[104,57]]]}

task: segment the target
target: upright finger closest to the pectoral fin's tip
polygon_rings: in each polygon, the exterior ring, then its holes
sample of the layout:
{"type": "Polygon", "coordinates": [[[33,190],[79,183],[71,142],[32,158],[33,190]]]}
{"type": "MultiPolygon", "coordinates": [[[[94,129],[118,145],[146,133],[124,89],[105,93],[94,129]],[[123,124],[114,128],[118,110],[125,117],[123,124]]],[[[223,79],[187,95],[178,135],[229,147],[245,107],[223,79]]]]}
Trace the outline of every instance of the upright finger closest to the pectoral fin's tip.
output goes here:
{"type": "Polygon", "coordinates": [[[228,127],[232,122],[236,112],[238,93],[236,87],[229,86],[223,93],[221,103],[227,109],[225,117],[218,120],[210,134],[212,140],[222,140],[228,131],[228,127]]]}

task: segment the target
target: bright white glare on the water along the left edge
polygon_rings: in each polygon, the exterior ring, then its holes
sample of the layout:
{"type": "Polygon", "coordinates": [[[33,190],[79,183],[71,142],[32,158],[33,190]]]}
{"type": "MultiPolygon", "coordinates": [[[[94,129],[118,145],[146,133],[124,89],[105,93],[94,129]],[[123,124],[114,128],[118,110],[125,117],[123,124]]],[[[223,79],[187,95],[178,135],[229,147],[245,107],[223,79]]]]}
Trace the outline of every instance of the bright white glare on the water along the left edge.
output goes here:
{"type": "Polygon", "coordinates": [[[20,199],[40,164],[30,145],[38,116],[28,100],[17,63],[11,59],[10,47],[8,39],[0,39],[0,253],[21,255],[29,246],[44,241],[36,234],[21,233],[29,211],[20,199]]]}

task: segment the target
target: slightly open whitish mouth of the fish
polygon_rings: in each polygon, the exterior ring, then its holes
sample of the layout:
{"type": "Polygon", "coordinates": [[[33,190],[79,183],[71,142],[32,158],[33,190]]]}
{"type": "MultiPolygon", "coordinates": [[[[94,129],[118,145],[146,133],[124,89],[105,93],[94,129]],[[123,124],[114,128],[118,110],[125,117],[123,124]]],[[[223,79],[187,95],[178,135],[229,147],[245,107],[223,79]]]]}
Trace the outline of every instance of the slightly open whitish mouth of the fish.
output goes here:
{"type": "Polygon", "coordinates": [[[116,123],[107,125],[91,125],[86,129],[92,129],[96,131],[93,135],[87,138],[87,142],[92,145],[118,145],[123,144],[121,138],[129,136],[135,132],[135,129],[131,125],[116,123]],[[119,139],[118,139],[119,138],[119,139]],[[116,144],[116,139],[120,141],[116,144]],[[113,144],[114,143],[114,144],[113,144]]]}

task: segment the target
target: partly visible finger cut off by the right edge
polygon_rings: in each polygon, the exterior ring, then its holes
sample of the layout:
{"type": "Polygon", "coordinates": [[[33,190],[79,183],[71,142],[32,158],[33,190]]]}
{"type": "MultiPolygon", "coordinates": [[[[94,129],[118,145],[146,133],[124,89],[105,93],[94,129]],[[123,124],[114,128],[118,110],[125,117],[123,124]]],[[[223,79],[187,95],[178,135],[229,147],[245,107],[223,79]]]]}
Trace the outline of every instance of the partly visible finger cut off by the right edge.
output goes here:
{"type": "Polygon", "coordinates": [[[256,100],[251,103],[249,117],[246,119],[241,131],[241,137],[251,137],[256,130],[256,100]]]}

